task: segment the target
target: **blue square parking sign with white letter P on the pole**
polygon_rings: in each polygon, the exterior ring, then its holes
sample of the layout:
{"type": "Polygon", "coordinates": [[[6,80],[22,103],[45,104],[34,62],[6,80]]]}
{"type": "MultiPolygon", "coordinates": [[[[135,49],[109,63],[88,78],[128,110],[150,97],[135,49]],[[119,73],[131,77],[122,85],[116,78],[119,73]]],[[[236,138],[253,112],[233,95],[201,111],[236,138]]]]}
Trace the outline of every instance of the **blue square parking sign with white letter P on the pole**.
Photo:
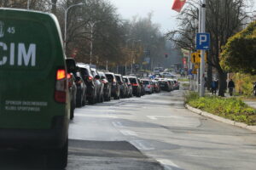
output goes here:
{"type": "Polygon", "coordinates": [[[196,34],[196,49],[210,49],[210,34],[197,33],[196,34]]]}

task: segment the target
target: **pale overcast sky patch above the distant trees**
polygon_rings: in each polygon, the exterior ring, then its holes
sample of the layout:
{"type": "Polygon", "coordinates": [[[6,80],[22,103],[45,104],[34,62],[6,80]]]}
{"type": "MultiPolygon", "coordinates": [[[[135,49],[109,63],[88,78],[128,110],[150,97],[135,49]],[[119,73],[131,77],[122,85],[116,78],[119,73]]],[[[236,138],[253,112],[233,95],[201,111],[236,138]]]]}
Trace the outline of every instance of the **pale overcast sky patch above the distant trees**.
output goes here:
{"type": "MultiPolygon", "coordinates": [[[[151,11],[153,22],[161,26],[161,31],[171,31],[177,26],[177,12],[172,10],[173,0],[108,0],[118,9],[123,19],[133,16],[146,17],[151,11]]],[[[253,0],[256,3],[256,0],[253,0]]],[[[256,4],[255,4],[256,5],[256,4]]],[[[254,7],[256,7],[254,5],[254,7]]],[[[255,8],[254,8],[255,9],[255,8]]]]}

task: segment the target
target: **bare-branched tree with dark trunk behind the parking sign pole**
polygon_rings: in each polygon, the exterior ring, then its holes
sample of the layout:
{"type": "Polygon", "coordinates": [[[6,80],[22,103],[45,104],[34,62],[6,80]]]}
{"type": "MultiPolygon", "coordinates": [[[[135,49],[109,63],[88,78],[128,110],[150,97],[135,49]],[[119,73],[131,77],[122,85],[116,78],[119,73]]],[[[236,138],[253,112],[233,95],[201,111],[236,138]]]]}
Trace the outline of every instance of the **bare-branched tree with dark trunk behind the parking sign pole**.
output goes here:
{"type": "MultiPolygon", "coordinates": [[[[207,64],[211,65],[218,71],[219,88],[218,95],[224,96],[226,88],[226,72],[222,69],[219,62],[219,54],[221,53],[221,46],[223,46],[228,38],[234,35],[241,27],[246,24],[249,14],[246,12],[247,0],[207,0],[207,24],[206,31],[211,35],[211,49],[207,55],[207,64]]],[[[193,42],[189,42],[191,34],[197,30],[196,19],[198,17],[197,8],[194,4],[197,1],[190,0],[183,12],[178,15],[178,20],[181,21],[178,33],[177,45],[182,48],[195,48],[193,42]],[[189,43],[189,44],[188,44],[189,43]]],[[[171,32],[172,33],[172,32],[171,32]]],[[[175,36],[172,36],[175,39],[175,36]]],[[[194,36],[192,37],[194,39],[194,36]]]]}

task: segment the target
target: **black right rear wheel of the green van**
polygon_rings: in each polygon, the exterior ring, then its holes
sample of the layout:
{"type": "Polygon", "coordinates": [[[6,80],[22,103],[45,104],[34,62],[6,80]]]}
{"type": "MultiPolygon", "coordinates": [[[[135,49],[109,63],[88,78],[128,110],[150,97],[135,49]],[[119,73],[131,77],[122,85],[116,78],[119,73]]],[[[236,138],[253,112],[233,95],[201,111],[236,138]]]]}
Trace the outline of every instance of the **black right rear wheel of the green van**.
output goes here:
{"type": "Polygon", "coordinates": [[[55,150],[49,150],[47,157],[47,167],[50,168],[65,168],[67,167],[67,154],[68,154],[68,139],[63,147],[55,150]]]}

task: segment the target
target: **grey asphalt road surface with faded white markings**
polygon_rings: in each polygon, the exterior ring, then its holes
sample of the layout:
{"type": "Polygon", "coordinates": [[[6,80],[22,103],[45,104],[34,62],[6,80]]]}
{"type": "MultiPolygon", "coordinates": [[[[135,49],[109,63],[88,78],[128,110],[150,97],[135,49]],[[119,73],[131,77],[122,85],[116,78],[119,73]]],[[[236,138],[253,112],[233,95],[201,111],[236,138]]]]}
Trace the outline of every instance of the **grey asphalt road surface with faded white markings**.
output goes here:
{"type": "MultiPolygon", "coordinates": [[[[67,170],[254,170],[255,146],[256,133],[186,110],[183,91],[173,91],[76,109],[67,170]]],[[[19,167],[44,164],[1,155],[19,167]]]]}

